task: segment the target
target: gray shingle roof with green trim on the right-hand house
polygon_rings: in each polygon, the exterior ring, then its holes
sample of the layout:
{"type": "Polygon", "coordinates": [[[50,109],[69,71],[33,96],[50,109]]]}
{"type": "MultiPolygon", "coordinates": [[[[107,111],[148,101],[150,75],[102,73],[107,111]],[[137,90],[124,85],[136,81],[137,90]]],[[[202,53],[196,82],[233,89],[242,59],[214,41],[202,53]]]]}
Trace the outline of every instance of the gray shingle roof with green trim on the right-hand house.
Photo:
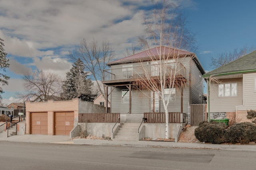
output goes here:
{"type": "Polygon", "coordinates": [[[228,63],[224,66],[216,68],[215,70],[207,72],[204,74],[204,76],[250,70],[255,70],[256,72],[256,51],[253,51],[252,53],[236,59],[235,61],[232,61],[231,63],[228,63]]]}

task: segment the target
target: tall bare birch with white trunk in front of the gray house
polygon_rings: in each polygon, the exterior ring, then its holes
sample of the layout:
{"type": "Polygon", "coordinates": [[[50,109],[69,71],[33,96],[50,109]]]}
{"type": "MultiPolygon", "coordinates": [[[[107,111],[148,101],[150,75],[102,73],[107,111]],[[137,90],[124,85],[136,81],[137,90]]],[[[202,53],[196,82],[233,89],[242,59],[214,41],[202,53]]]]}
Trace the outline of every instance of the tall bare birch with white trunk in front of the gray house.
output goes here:
{"type": "Polygon", "coordinates": [[[166,116],[166,139],[169,138],[168,105],[174,90],[185,85],[178,74],[184,69],[181,64],[185,57],[192,58],[194,53],[181,49],[196,49],[194,34],[186,29],[186,17],[179,6],[168,1],[152,0],[153,10],[144,15],[144,35],[139,37],[142,47],[148,52],[151,71],[142,63],[144,77],[140,77],[134,85],[143,92],[150,90],[153,100],[160,100],[166,116]],[[155,51],[152,51],[152,47],[155,51]]]}

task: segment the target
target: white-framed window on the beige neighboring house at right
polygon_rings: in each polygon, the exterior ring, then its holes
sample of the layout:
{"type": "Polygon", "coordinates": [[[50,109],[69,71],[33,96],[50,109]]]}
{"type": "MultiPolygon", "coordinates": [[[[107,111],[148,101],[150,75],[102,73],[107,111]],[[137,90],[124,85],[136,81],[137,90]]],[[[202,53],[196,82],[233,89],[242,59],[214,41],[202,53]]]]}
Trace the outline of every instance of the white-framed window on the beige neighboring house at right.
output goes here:
{"type": "Polygon", "coordinates": [[[219,97],[236,97],[237,96],[237,83],[225,83],[218,85],[219,97]]]}

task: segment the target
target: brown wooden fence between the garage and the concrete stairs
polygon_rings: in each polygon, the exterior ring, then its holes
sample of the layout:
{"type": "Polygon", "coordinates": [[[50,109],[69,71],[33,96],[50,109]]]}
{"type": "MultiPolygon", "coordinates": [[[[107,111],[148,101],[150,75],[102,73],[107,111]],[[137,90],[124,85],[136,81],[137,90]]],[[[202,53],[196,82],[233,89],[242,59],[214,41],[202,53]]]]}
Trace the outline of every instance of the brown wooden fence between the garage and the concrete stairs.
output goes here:
{"type": "MultiPolygon", "coordinates": [[[[116,123],[120,113],[79,113],[79,123],[116,123]]],[[[120,123],[120,119],[118,121],[120,123]]]]}

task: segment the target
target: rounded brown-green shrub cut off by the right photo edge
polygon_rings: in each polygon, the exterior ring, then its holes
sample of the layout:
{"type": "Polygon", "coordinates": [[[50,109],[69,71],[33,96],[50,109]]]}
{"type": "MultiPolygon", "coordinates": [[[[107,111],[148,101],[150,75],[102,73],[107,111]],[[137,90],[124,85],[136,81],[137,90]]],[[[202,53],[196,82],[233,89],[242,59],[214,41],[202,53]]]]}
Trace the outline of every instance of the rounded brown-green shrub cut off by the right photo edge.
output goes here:
{"type": "Polygon", "coordinates": [[[249,122],[236,123],[226,129],[227,143],[246,144],[256,140],[256,125],[249,122]]]}

